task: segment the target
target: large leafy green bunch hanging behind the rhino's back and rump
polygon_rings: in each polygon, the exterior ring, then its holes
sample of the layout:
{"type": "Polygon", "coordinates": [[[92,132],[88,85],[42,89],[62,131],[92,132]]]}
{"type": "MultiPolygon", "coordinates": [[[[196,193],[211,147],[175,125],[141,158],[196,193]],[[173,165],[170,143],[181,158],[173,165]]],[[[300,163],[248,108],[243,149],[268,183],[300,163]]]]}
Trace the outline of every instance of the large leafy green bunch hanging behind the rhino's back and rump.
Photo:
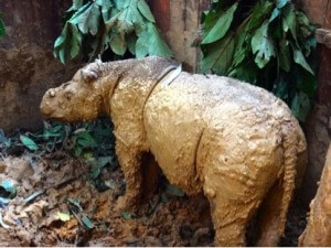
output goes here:
{"type": "Polygon", "coordinates": [[[305,121],[317,89],[314,26],[290,0],[250,2],[213,0],[203,13],[201,72],[264,87],[305,121]]]}

